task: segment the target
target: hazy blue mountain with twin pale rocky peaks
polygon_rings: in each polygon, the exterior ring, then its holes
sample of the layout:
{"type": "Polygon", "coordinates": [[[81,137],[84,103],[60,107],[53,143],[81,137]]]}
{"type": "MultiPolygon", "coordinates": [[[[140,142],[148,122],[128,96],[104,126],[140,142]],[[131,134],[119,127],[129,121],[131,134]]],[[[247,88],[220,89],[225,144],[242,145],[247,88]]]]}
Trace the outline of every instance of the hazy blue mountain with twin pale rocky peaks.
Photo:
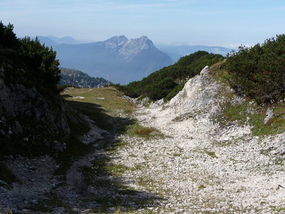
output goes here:
{"type": "Polygon", "coordinates": [[[46,46],[53,46],[62,67],[110,78],[113,83],[138,81],[173,63],[172,58],[157,49],[146,36],[138,39],[114,36],[88,44],[66,44],[68,39],[76,41],[66,37],[58,40],[38,36],[38,39],[46,46]]]}

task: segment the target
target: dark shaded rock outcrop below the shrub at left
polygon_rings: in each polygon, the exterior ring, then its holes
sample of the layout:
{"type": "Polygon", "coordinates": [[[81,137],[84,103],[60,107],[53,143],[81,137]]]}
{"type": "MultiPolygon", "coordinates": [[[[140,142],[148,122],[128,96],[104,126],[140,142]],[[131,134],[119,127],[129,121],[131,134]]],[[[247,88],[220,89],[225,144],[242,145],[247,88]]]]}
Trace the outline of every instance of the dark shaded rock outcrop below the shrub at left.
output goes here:
{"type": "MultiPolygon", "coordinates": [[[[52,146],[58,138],[68,138],[68,122],[76,122],[61,96],[45,91],[33,81],[24,66],[0,66],[1,153],[38,143],[52,146]]],[[[58,143],[53,146],[58,147],[58,143]]]]}

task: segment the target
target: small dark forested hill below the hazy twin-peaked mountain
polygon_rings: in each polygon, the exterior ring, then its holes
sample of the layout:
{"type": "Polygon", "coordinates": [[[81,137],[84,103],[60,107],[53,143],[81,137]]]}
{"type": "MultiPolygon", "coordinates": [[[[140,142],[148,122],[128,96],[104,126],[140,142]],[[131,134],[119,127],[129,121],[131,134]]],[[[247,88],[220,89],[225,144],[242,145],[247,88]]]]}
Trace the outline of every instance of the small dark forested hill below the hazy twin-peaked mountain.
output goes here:
{"type": "Polygon", "coordinates": [[[81,88],[101,88],[110,82],[105,78],[94,78],[75,69],[61,68],[61,82],[59,85],[73,85],[81,88]]]}

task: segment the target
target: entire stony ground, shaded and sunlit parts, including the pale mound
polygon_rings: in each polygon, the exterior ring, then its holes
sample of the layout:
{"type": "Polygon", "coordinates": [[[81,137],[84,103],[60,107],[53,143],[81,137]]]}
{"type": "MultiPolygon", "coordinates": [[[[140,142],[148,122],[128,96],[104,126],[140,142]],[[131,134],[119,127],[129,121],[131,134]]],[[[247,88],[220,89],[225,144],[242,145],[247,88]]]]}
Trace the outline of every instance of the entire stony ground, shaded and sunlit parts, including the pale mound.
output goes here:
{"type": "Polygon", "coordinates": [[[98,141],[66,179],[54,175],[51,157],[8,158],[22,183],[1,188],[2,204],[19,213],[285,213],[285,134],[221,126],[224,88],[207,72],[170,103],[117,111],[111,122],[125,131],[105,133],[89,121],[82,139],[98,141]]]}

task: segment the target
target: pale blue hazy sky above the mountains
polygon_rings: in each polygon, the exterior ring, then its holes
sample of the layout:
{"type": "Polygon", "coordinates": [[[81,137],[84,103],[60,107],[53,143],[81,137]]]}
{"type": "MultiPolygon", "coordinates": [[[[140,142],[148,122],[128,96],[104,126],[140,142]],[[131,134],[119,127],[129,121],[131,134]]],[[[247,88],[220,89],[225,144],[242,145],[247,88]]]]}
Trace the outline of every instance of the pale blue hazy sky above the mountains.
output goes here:
{"type": "Polygon", "coordinates": [[[285,33],[285,0],[0,0],[18,36],[239,46],[285,33]]]}

